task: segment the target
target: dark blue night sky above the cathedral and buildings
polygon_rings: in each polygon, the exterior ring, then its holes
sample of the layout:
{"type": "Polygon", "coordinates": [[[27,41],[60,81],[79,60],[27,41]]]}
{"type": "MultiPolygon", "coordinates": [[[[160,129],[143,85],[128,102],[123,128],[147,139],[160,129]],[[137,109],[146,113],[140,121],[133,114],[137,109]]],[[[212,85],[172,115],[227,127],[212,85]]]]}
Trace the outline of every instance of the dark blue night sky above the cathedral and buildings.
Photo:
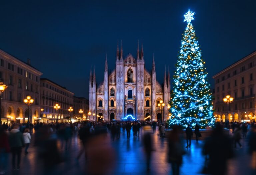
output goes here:
{"type": "Polygon", "coordinates": [[[117,40],[124,55],[136,56],[143,40],[145,67],[163,82],[164,66],[171,76],[186,23],[183,14],[194,11],[192,22],[203,59],[212,76],[256,50],[256,1],[1,1],[0,48],[43,72],[42,77],[88,97],[90,65],[97,82],[104,76],[105,53],[115,68],[117,40]]]}

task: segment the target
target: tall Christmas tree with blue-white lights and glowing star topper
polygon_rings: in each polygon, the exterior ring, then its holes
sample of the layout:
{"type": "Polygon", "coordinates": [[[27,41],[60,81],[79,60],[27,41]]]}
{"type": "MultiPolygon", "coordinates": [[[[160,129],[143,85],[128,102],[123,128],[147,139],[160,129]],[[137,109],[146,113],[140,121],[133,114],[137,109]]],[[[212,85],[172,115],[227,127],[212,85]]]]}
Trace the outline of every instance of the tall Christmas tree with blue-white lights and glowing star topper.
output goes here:
{"type": "Polygon", "coordinates": [[[207,125],[212,127],[215,121],[205,62],[191,23],[193,15],[190,10],[184,15],[187,27],[182,35],[174,72],[169,127],[174,124],[181,124],[183,127],[190,124],[194,127],[198,123],[201,128],[205,128],[207,125]]]}

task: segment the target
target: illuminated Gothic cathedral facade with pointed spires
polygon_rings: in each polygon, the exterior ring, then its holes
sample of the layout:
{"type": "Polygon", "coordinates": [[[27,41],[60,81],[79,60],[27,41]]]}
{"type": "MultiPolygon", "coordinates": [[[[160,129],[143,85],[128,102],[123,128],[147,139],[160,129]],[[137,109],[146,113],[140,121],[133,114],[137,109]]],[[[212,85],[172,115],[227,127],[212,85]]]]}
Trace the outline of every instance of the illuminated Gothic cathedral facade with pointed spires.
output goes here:
{"type": "Polygon", "coordinates": [[[137,58],[128,54],[123,57],[123,48],[117,44],[116,68],[108,71],[105,62],[104,81],[96,84],[95,69],[90,72],[89,80],[89,118],[90,120],[150,120],[161,119],[160,100],[166,104],[162,107],[162,119],[168,119],[167,104],[170,101],[170,73],[164,73],[164,83],[156,80],[153,57],[152,70],[145,69],[143,47],[137,49],[137,58]]]}

